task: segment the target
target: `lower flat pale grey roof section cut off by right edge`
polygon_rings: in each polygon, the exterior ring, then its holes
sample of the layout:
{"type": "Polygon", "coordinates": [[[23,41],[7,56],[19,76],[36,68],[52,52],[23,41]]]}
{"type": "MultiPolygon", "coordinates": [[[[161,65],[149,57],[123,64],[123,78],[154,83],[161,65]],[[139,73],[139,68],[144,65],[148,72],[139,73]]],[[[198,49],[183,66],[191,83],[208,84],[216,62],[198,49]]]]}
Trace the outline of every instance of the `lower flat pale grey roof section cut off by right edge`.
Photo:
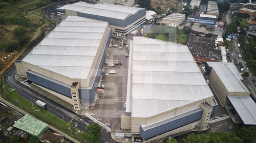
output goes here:
{"type": "Polygon", "coordinates": [[[256,103],[250,96],[227,96],[245,125],[256,125],[256,103]]]}

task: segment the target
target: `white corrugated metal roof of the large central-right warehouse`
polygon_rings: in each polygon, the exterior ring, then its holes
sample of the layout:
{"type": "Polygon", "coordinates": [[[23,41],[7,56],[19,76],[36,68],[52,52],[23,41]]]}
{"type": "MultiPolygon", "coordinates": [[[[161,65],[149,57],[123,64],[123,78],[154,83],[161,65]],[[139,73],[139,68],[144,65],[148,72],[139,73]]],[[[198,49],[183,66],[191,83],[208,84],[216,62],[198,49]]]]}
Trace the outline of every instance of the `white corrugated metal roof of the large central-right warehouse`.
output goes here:
{"type": "Polygon", "coordinates": [[[132,43],[132,117],[152,117],[213,96],[186,45],[144,37],[132,43]]]}

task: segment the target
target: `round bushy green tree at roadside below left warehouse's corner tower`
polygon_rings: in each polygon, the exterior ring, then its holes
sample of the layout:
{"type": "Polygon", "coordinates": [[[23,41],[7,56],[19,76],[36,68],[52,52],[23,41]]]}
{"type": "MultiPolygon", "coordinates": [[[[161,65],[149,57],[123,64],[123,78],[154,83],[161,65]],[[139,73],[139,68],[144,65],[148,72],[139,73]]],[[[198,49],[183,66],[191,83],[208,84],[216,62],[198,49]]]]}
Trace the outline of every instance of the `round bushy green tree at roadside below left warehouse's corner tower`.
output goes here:
{"type": "Polygon", "coordinates": [[[86,127],[86,130],[88,132],[88,136],[93,139],[97,139],[101,136],[101,128],[98,123],[90,124],[86,127]]]}

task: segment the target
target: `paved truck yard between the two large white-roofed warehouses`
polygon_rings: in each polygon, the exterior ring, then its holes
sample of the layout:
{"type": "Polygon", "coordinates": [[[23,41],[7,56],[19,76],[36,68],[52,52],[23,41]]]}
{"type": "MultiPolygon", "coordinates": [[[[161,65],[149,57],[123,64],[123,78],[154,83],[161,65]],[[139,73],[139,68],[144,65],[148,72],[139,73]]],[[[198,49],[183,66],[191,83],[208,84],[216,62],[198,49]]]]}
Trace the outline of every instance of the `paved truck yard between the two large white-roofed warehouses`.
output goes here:
{"type": "Polygon", "coordinates": [[[108,76],[100,78],[100,85],[104,84],[104,93],[95,95],[95,103],[89,107],[88,114],[115,132],[120,130],[121,112],[125,111],[129,56],[125,56],[128,50],[125,45],[121,45],[121,41],[112,41],[112,45],[116,43],[118,47],[109,48],[106,61],[117,60],[122,62],[122,65],[116,64],[115,67],[110,67],[105,64],[103,71],[108,73],[108,76]],[[111,74],[111,70],[115,70],[116,74],[111,74]]]}

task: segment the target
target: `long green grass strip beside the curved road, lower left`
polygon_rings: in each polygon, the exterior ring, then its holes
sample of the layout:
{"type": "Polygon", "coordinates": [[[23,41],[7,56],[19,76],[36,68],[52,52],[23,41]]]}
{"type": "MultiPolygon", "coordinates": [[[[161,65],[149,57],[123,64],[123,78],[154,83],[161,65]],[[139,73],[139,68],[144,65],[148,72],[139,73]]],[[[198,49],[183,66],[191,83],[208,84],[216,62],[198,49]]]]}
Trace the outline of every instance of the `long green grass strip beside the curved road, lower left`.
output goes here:
{"type": "MultiPolygon", "coordinates": [[[[37,119],[72,136],[71,133],[67,129],[68,127],[67,127],[67,123],[65,121],[62,121],[61,119],[52,115],[50,112],[46,111],[44,108],[37,106],[36,104],[34,104],[35,101],[33,103],[31,103],[31,101],[23,98],[22,96],[19,96],[17,91],[15,89],[13,89],[12,87],[10,87],[10,85],[8,85],[6,83],[5,83],[5,91],[6,91],[5,99],[7,101],[15,104],[19,108],[20,108],[20,106],[22,106],[23,110],[29,112],[31,115],[33,115],[37,119]]],[[[83,140],[88,140],[90,142],[96,142],[96,143],[98,142],[96,139],[91,139],[90,137],[88,137],[87,133],[85,133],[79,129],[76,130],[75,127],[72,127],[72,133],[73,133],[72,137],[77,139],[80,142],[83,142],[83,140]]]]}

